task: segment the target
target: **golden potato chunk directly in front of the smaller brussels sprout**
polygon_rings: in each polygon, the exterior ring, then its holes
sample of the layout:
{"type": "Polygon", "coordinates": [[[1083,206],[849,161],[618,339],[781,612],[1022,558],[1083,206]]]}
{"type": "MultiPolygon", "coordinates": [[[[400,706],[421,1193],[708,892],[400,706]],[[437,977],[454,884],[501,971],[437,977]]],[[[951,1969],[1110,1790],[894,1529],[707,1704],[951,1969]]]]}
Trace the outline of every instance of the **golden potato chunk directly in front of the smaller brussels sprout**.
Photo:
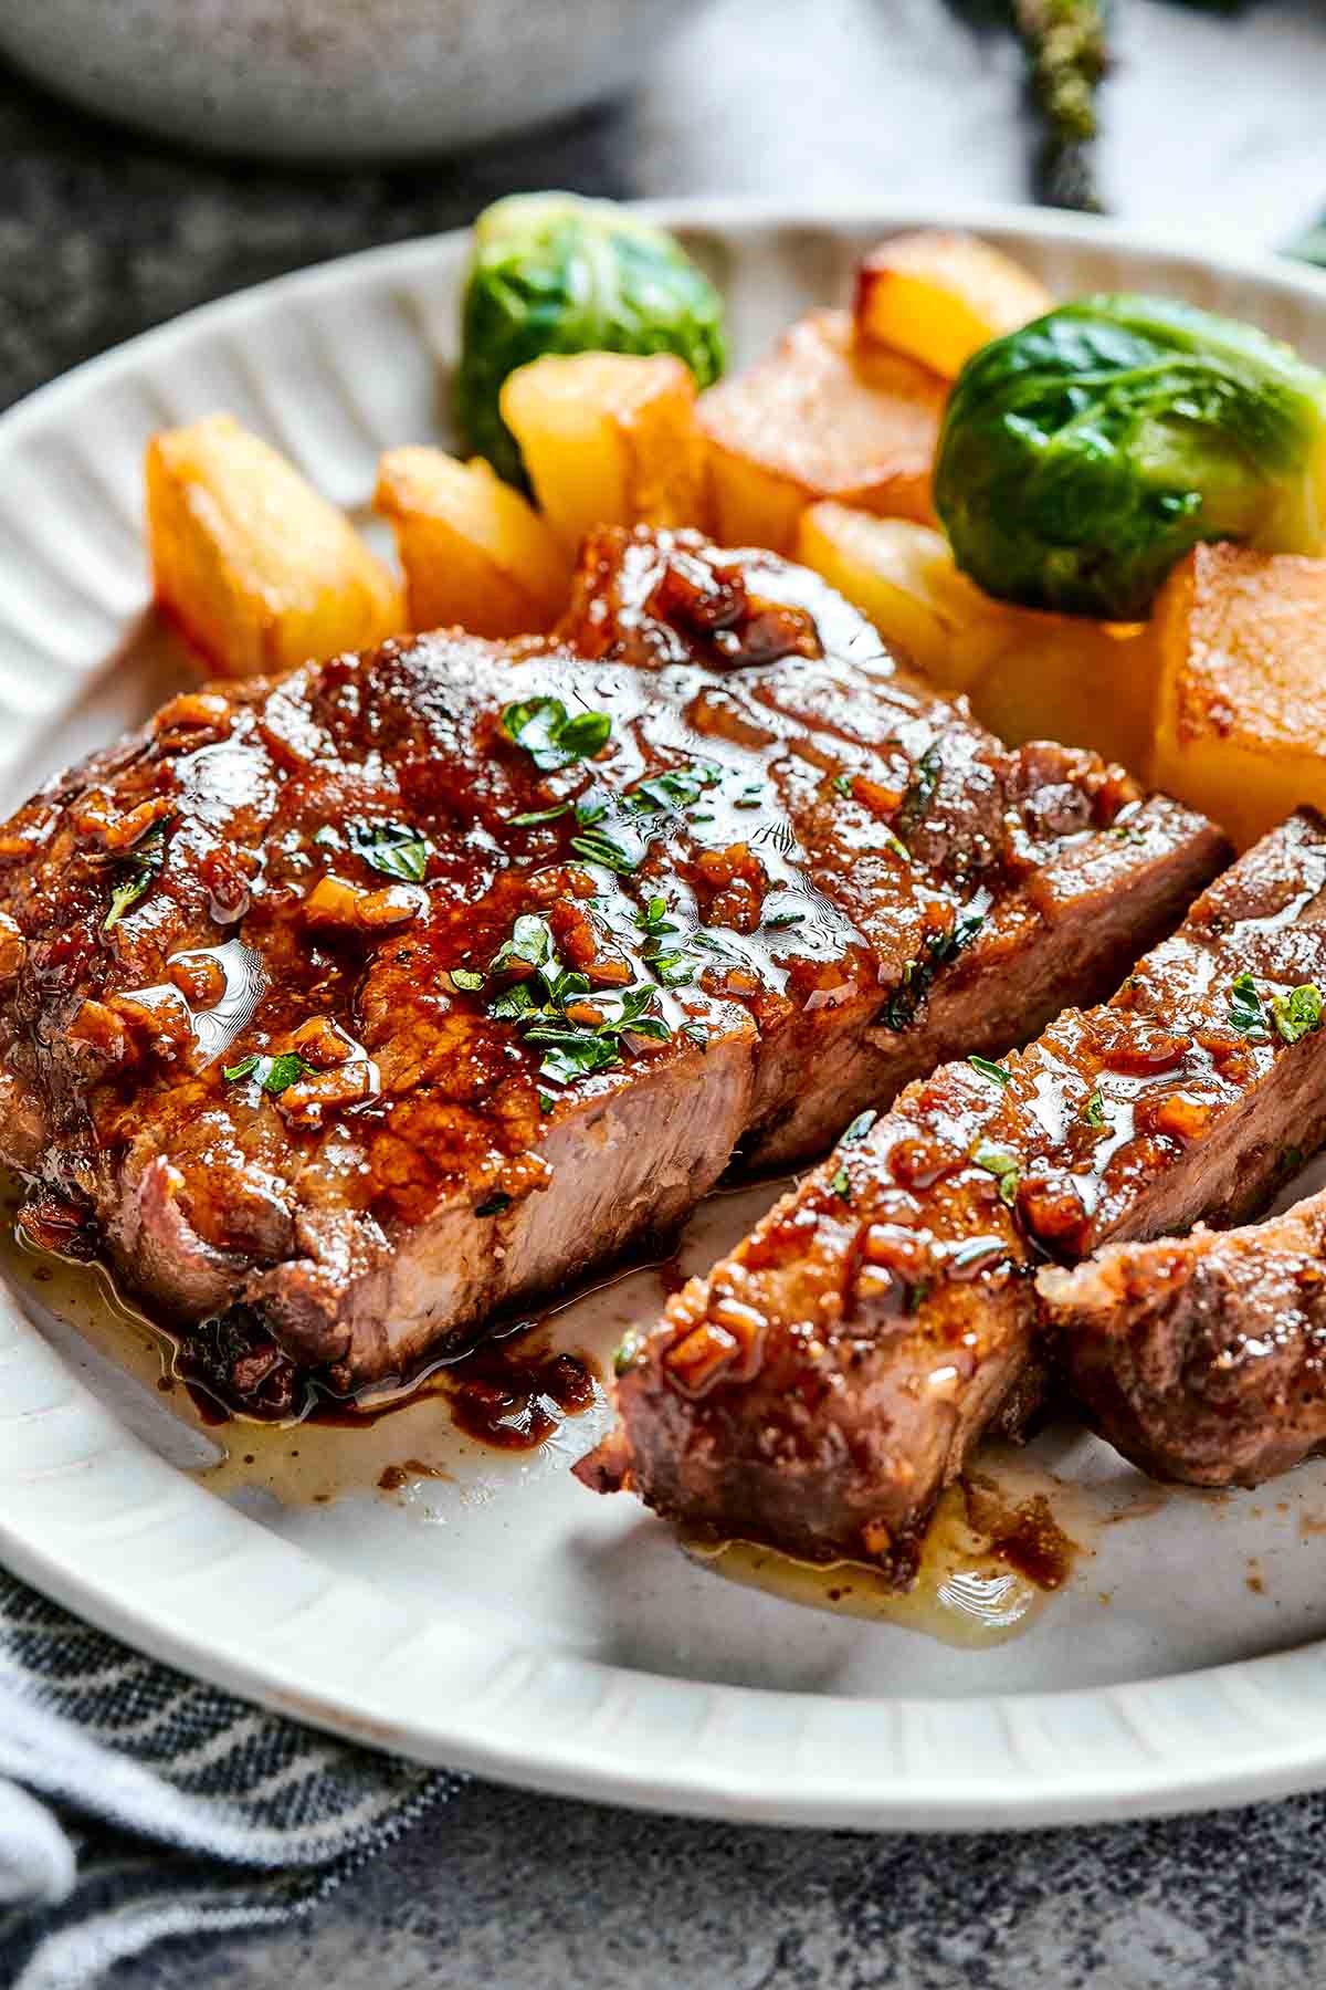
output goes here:
{"type": "Polygon", "coordinates": [[[704,525],[696,380],[668,352],[577,352],[519,366],[501,416],[571,557],[596,525],[704,525]]]}

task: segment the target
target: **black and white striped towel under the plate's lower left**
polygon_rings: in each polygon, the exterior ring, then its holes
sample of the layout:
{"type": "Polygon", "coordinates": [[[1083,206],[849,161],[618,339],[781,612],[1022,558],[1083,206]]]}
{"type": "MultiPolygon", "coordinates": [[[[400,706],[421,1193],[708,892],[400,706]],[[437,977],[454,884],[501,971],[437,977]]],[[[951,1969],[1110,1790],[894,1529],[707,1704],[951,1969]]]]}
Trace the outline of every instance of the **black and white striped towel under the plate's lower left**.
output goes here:
{"type": "Polygon", "coordinates": [[[0,1570],[0,1984],[308,1912],[455,1787],[231,1699],[0,1570]]]}

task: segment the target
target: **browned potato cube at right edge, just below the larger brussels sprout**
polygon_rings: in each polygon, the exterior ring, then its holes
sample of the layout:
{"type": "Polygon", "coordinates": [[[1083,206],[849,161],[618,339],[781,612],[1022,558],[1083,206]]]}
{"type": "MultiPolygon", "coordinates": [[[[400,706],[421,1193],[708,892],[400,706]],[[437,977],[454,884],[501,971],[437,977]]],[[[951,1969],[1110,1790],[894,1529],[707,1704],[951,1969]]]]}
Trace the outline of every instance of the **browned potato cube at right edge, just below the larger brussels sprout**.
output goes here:
{"type": "Polygon", "coordinates": [[[1155,607],[1151,778],[1244,848],[1326,808],[1326,559],[1197,545],[1155,607]]]}

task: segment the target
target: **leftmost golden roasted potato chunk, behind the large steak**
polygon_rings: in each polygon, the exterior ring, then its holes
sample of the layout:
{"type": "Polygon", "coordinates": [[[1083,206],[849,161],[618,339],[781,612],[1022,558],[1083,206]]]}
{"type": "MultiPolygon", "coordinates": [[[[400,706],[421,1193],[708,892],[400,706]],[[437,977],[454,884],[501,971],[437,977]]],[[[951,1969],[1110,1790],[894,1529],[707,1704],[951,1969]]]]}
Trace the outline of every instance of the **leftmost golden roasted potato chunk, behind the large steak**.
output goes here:
{"type": "Polygon", "coordinates": [[[404,627],[394,575],[350,519],[233,416],[147,446],[157,601],[219,677],[264,677],[404,627]]]}

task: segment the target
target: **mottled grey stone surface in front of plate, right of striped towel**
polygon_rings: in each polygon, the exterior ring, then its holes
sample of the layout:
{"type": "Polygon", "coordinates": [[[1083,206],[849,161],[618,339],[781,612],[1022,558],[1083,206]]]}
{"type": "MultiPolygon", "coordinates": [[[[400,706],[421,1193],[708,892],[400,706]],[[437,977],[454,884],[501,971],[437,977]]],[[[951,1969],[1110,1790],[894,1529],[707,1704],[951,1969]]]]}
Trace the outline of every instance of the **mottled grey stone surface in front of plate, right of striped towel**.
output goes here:
{"type": "Polygon", "coordinates": [[[1105,1831],[734,1831],[471,1787],[298,1932],[117,1990],[1310,1990],[1326,1799],[1105,1831]]]}

